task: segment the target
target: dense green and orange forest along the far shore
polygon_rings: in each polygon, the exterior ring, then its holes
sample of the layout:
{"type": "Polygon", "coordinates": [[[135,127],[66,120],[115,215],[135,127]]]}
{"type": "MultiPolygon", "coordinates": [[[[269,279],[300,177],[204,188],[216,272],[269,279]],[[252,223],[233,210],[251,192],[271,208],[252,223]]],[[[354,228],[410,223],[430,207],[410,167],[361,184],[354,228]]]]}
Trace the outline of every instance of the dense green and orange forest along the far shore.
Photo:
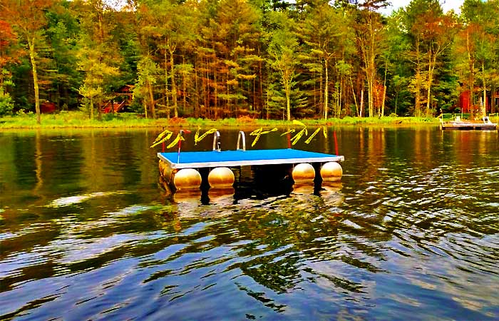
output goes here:
{"type": "Polygon", "coordinates": [[[0,117],[428,117],[463,97],[471,116],[498,111],[499,0],[388,3],[2,0],[0,117]]]}

